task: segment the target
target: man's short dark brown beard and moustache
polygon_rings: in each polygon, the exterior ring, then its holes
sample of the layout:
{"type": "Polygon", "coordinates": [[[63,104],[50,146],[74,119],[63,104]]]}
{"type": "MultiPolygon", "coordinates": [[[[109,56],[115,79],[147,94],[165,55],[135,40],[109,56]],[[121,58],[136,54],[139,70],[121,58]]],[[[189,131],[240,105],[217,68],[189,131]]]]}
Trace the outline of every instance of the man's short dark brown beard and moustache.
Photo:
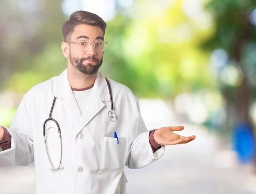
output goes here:
{"type": "Polygon", "coordinates": [[[103,62],[103,57],[101,59],[96,59],[94,56],[88,56],[88,57],[83,57],[83,58],[72,58],[71,55],[70,57],[70,62],[75,67],[78,69],[81,73],[84,73],[85,75],[93,75],[97,73],[99,70],[99,67],[102,65],[103,62]],[[84,60],[93,60],[96,62],[95,65],[91,63],[87,63],[86,65],[83,64],[84,60]]]}

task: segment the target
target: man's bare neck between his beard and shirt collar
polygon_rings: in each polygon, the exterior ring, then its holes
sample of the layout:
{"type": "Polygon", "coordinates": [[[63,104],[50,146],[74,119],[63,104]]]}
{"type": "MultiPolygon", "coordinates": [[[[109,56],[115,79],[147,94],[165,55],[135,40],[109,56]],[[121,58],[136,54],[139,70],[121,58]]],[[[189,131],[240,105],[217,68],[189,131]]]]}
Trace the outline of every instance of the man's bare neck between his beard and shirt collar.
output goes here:
{"type": "Polygon", "coordinates": [[[85,75],[81,73],[79,70],[70,70],[67,69],[67,78],[72,88],[83,89],[86,87],[90,87],[94,84],[97,78],[98,72],[93,75],[85,75]]]}

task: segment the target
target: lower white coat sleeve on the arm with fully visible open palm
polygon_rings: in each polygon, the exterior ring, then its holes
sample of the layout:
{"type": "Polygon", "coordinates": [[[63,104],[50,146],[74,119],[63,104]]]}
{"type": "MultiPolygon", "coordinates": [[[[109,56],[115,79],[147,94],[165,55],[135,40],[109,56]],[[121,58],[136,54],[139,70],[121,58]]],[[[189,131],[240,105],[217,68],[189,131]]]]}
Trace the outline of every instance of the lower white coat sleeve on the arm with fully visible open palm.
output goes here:
{"type": "Polygon", "coordinates": [[[131,151],[128,155],[126,166],[130,169],[140,169],[147,166],[162,157],[165,146],[162,146],[153,153],[149,143],[149,132],[147,130],[142,116],[140,115],[140,105],[137,102],[138,118],[136,125],[137,138],[131,144],[131,151]]]}

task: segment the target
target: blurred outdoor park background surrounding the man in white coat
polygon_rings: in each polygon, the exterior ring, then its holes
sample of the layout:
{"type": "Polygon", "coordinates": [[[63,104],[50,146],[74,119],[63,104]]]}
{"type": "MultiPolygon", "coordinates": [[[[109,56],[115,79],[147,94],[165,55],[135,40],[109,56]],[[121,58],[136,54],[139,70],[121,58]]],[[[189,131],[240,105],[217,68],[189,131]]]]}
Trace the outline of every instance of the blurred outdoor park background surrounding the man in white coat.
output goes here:
{"type": "MultiPolygon", "coordinates": [[[[61,24],[77,10],[107,22],[100,71],[134,92],[147,127],[197,137],[125,169],[127,193],[256,194],[255,0],[2,0],[0,125],[67,68],[61,24]]],[[[35,193],[33,164],[0,158],[0,193],[35,193]]]]}

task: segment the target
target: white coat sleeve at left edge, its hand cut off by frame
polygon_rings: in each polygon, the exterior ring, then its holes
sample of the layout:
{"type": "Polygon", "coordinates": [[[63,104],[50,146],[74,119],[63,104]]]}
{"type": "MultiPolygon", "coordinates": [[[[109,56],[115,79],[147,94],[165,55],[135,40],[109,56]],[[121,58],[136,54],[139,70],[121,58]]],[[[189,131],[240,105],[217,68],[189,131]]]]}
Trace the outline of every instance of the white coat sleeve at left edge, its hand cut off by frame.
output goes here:
{"type": "Polygon", "coordinates": [[[0,151],[0,156],[13,165],[27,166],[32,163],[34,161],[33,134],[23,100],[17,108],[11,127],[5,128],[12,135],[11,148],[0,151]]]}

